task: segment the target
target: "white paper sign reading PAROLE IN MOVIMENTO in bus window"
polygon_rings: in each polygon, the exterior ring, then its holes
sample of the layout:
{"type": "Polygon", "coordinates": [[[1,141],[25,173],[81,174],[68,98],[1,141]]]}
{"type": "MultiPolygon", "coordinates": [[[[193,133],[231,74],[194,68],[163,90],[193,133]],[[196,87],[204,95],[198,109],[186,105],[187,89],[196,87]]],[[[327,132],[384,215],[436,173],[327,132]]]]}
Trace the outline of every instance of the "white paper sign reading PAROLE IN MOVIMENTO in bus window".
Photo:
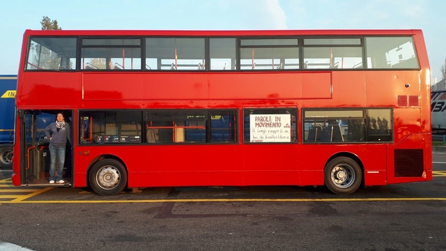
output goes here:
{"type": "Polygon", "coordinates": [[[250,142],[291,142],[291,114],[249,114],[250,142]]]}

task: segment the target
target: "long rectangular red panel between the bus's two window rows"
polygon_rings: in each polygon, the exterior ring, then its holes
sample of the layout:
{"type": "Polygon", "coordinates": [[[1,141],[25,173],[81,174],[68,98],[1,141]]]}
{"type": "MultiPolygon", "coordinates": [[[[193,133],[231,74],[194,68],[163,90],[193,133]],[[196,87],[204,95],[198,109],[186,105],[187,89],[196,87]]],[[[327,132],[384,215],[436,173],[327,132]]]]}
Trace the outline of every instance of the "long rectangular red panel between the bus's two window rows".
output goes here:
{"type": "Polygon", "coordinates": [[[105,81],[104,73],[83,73],[84,100],[171,100],[173,96],[176,100],[332,98],[331,73],[258,74],[152,73],[148,80],[137,73],[109,73],[105,81]],[[106,94],[104,82],[112,90],[106,94]],[[133,87],[129,89],[123,84],[126,82],[133,87]]]}

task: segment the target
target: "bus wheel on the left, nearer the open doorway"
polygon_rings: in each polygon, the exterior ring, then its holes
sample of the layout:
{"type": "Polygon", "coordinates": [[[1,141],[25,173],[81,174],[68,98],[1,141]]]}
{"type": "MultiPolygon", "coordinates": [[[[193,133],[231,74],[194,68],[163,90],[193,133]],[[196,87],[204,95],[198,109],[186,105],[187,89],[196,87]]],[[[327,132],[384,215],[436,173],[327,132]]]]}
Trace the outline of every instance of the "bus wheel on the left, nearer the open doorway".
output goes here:
{"type": "Polygon", "coordinates": [[[125,188],[127,172],[117,160],[100,160],[91,167],[89,181],[98,195],[117,195],[125,188]]]}

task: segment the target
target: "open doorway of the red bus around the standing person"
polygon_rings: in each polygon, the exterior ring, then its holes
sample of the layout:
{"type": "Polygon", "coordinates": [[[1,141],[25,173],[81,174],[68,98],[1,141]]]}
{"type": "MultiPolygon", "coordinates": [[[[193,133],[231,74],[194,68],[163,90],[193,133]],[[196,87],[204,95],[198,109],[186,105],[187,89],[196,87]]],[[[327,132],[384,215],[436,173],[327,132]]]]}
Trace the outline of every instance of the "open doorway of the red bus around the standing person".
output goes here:
{"type": "MultiPolygon", "coordinates": [[[[24,110],[20,116],[20,169],[22,185],[56,185],[70,186],[72,183],[72,111],[71,110],[24,110]],[[65,183],[49,183],[49,138],[45,136],[45,128],[56,121],[61,112],[65,123],[70,126],[70,141],[67,140],[63,181],[65,183]],[[71,143],[70,143],[71,142],[71,143]]],[[[59,162],[56,158],[56,169],[59,162]]]]}

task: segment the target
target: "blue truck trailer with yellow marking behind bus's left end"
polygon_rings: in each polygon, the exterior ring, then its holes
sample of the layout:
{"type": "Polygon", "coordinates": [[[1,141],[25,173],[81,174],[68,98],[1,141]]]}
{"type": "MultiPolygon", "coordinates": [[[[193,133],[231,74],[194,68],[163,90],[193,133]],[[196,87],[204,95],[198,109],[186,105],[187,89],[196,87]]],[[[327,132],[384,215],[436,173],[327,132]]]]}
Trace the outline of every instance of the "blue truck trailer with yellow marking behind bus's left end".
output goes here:
{"type": "Polygon", "coordinates": [[[17,75],[0,75],[0,169],[13,167],[17,75]]]}

